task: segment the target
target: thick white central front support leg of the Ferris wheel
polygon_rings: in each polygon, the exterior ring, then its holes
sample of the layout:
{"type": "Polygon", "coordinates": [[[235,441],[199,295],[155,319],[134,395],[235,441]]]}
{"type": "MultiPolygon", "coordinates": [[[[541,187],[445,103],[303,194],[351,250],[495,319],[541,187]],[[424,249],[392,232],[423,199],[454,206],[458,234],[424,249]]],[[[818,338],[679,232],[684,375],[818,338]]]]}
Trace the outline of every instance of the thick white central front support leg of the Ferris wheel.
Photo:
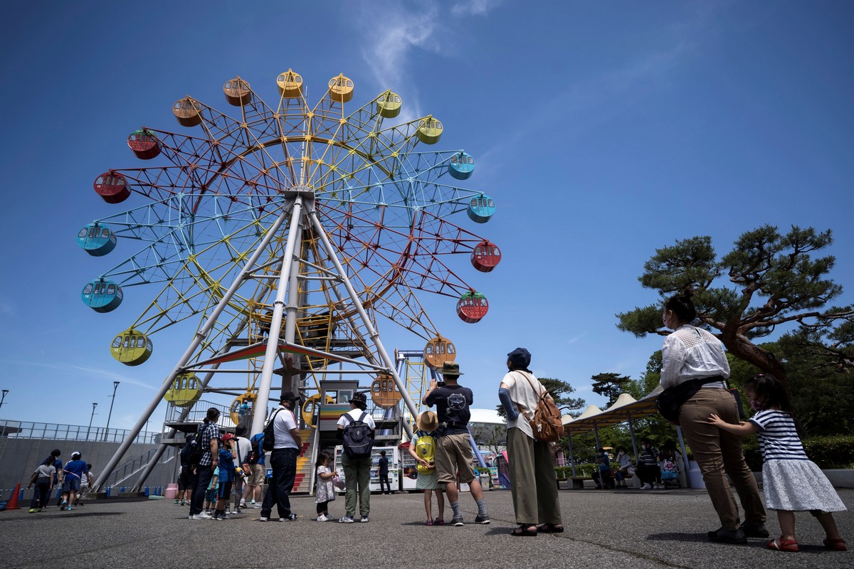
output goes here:
{"type": "MultiPolygon", "coordinates": [[[[294,258],[294,247],[299,234],[300,220],[302,216],[302,195],[297,194],[294,200],[294,208],[290,212],[290,227],[288,228],[288,241],[284,247],[282,268],[278,276],[278,288],[276,299],[272,305],[272,318],[270,319],[270,334],[267,334],[267,347],[264,352],[264,364],[261,366],[261,376],[258,385],[258,395],[255,398],[255,412],[252,415],[252,436],[264,431],[266,414],[259,413],[260,409],[266,409],[270,400],[270,385],[272,384],[272,369],[276,364],[276,352],[278,351],[278,336],[282,329],[282,312],[284,311],[285,289],[288,286],[291,262],[294,258]]],[[[293,291],[295,294],[296,291],[293,291]]]]}

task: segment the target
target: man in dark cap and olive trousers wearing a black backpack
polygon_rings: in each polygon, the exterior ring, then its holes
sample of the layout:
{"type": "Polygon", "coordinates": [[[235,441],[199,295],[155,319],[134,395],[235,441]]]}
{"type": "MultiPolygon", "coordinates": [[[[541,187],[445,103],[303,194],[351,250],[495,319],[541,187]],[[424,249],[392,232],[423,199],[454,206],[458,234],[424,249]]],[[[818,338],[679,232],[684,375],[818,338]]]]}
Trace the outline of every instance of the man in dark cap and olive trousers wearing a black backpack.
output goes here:
{"type": "Polygon", "coordinates": [[[373,417],[368,415],[367,396],[356,392],[350,399],[350,410],[338,419],[336,436],[342,441],[344,452],[341,463],[344,467],[344,509],[342,524],[352,524],[356,515],[356,496],[359,496],[360,522],[367,523],[371,514],[371,450],[373,450],[373,417]]]}

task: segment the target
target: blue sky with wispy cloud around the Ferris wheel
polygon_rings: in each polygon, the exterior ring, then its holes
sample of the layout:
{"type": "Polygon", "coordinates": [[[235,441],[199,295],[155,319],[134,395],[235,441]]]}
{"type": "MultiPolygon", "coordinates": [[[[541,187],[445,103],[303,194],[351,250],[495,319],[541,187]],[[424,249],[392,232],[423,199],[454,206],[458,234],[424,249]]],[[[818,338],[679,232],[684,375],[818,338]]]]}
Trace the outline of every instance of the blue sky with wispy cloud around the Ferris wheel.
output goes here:
{"type": "MultiPolygon", "coordinates": [[[[10,5],[0,416],[86,425],[97,402],[103,426],[120,380],[111,426],[132,426],[193,330],[155,336],[137,368],[110,357],[158,288],[133,287],[109,314],[80,302],[103,265],[74,236],[115,212],[91,183],[137,165],[125,140],[140,125],[179,131],[178,98],[225,110],[222,84],[239,74],[273,99],[289,67],[309,93],[338,73],[357,102],[391,88],[407,116],[442,119],[438,146],[477,157],[467,185],[498,211],[454,221],[501,247],[498,269],[465,274],[489,314],[465,324],[452,299],[423,297],[477,407],[497,404],[518,345],[588,403],[602,403],[591,375],[637,377],[661,340],[619,332],[614,315],[654,300],[637,277],[678,239],[711,235],[726,253],[762,224],[833,229],[839,304],[854,302],[852,26],[847,2],[10,5]]],[[[423,346],[381,326],[389,348],[423,346]]]]}

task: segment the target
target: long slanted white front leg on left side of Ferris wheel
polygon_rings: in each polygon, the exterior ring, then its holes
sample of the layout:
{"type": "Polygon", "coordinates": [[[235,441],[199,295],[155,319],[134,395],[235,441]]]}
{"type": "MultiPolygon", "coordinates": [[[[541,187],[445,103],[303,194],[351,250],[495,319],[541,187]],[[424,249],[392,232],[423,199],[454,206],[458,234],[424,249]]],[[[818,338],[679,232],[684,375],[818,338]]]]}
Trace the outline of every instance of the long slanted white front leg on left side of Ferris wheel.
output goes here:
{"type": "Polygon", "coordinates": [[[133,439],[137,438],[137,435],[142,430],[145,422],[149,420],[149,417],[152,413],[155,412],[155,409],[157,409],[157,405],[160,404],[163,396],[166,395],[167,391],[169,391],[169,387],[172,386],[175,377],[181,372],[181,369],[184,369],[184,366],[187,364],[187,362],[190,361],[190,357],[192,357],[193,354],[196,353],[196,348],[198,348],[199,345],[202,344],[202,340],[204,340],[208,336],[208,332],[211,328],[213,328],[213,324],[216,323],[217,318],[219,318],[219,315],[222,314],[223,311],[225,311],[225,306],[227,306],[228,303],[231,301],[231,297],[234,296],[234,293],[237,293],[237,288],[239,288],[240,285],[243,284],[243,281],[249,278],[249,271],[252,270],[252,267],[255,263],[258,262],[258,259],[260,258],[261,254],[264,253],[264,250],[270,244],[272,238],[278,233],[278,228],[281,227],[281,225],[284,223],[284,220],[287,218],[287,214],[288,208],[283,207],[282,213],[279,214],[276,221],[270,226],[270,229],[267,230],[266,234],[258,244],[258,247],[256,247],[254,253],[252,253],[252,257],[250,257],[246,264],[243,265],[243,270],[238,276],[235,277],[234,282],[231,282],[231,287],[229,287],[229,289],[225,291],[225,294],[223,294],[222,299],[219,300],[219,304],[216,305],[216,308],[213,309],[211,316],[208,317],[208,320],[202,325],[202,328],[199,328],[199,330],[196,332],[196,335],[193,336],[193,340],[190,342],[190,345],[187,347],[187,350],[184,351],[184,355],[181,356],[181,358],[178,360],[178,363],[175,365],[175,368],[167,376],[166,380],[163,381],[160,390],[155,393],[155,397],[152,398],[151,403],[149,403],[149,406],[143,411],[143,415],[139,417],[137,424],[133,426],[131,432],[127,434],[125,441],[120,444],[119,449],[115,451],[113,457],[109,459],[107,466],[104,467],[102,473],[98,476],[97,480],[95,480],[96,490],[101,489],[101,486],[104,484],[104,482],[107,481],[109,475],[113,473],[113,469],[119,463],[121,457],[125,456],[125,453],[133,443],[133,439]]]}

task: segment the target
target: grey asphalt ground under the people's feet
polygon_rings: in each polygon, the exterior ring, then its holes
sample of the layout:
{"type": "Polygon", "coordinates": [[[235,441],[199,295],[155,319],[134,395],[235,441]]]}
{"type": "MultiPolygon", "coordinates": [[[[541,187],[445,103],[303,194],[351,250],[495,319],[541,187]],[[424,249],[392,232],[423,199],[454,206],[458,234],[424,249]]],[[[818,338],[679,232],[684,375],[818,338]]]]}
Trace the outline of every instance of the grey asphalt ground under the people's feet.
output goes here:
{"type": "MultiPolygon", "coordinates": [[[[854,510],[854,490],[840,491],[854,510]]],[[[487,493],[491,525],[425,527],[423,496],[371,496],[371,522],[343,525],[309,520],[313,498],[296,497],[295,522],[262,524],[259,510],[233,520],[187,520],[187,508],[171,501],[92,502],[71,512],[50,508],[0,512],[0,566],[164,569],[170,567],[845,567],[854,552],[822,548],[822,530],[810,514],[798,514],[801,553],[709,543],[705,531],[717,517],[705,491],[561,491],[560,535],[511,537],[508,491],[487,493]]],[[[467,521],[477,511],[461,496],[467,521]]],[[[342,515],[343,500],[330,504],[342,515]]],[[[771,513],[769,530],[779,531],[771,513]]],[[[450,518],[450,510],[446,513],[450,518]]],[[[854,513],[837,522],[854,546],[854,513]]],[[[851,549],[854,549],[852,547],[851,549]]]]}

